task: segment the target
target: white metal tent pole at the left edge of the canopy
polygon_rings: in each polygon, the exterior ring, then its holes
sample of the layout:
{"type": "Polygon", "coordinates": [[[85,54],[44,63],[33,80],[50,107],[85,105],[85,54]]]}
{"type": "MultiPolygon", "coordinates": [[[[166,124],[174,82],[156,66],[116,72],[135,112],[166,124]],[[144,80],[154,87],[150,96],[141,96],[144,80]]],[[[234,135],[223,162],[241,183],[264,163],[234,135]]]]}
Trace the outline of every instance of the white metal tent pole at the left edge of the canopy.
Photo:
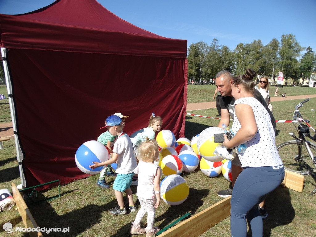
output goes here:
{"type": "Polygon", "coordinates": [[[14,103],[13,103],[13,91],[12,91],[12,84],[9,74],[9,68],[8,68],[8,62],[6,60],[7,55],[7,49],[1,48],[1,55],[2,55],[2,62],[3,62],[3,69],[4,69],[4,75],[5,75],[5,81],[7,84],[7,91],[8,91],[8,99],[9,99],[9,105],[10,105],[10,112],[11,112],[11,119],[12,119],[12,125],[13,125],[13,131],[14,131],[14,140],[15,140],[15,149],[16,149],[16,159],[19,162],[19,170],[20,170],[20,177],[21,177],[21,184],[23,187],[26,186],[26,181],[22,169],[22,163],[23,160],[23,153],[21,150],[21,146],[18,140],[18,135],[16,132],[16,119],[15,119],[15,109],[14,109],[14,103]]]}

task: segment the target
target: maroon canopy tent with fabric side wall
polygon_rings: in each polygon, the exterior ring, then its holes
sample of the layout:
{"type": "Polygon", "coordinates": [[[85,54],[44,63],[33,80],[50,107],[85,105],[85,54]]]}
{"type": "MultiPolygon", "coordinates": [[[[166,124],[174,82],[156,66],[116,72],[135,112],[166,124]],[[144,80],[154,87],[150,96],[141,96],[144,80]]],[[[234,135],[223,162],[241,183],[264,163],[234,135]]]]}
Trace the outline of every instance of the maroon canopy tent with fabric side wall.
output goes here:
{"type": "Polygon", "coordinates": [[[0,14],[0,33],[24,186],[86,177],[76,150],[116,112],[130,116],[128,134],[154,112],[184,137],[186,40],[140,29],[94,0],[0,14]]]}

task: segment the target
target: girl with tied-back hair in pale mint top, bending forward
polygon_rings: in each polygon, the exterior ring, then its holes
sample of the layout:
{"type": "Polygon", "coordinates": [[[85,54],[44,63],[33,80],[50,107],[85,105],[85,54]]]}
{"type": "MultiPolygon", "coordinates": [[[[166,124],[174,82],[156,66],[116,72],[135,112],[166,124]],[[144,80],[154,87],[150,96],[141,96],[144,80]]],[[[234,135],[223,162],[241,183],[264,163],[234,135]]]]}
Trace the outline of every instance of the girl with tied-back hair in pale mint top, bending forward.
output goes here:
{"type": "MultiPolygon", "coordinates": [[[[162,119],[159,116],[155,116],[154,113],[149,118],[149,124],[147,128],[143,128],[141,130],[138,130],[134,132],[131,135],[131,141],[133,143],[133,149],[135,152],[135,156],[137,159],[138,153],[137,148],[138,146],[145,141],[145,138],[154,139],[155,138],[155,132],[159,132],[161,130],[162,126],[162,119]]],[[[133,177],[132,185],[137,185],[137,175],[133,177]]]]}

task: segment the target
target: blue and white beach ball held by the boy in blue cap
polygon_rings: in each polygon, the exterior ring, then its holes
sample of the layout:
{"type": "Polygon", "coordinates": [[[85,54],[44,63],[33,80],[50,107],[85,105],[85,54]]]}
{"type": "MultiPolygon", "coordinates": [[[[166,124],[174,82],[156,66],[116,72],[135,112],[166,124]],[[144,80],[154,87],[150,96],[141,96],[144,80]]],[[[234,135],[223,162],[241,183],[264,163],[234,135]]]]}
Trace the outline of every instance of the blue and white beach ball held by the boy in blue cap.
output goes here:
{"type": "Polygon", "coordinates": [[[109,152],[105,145],[98,141],[88,141],[83,143],[76,151],[75,161],[77,167],[87,174],[100,173],[105,166],[100,166],[95,169],[89,168],[93,165],[93,161],[104,162],[110,158],[109,152]]]}

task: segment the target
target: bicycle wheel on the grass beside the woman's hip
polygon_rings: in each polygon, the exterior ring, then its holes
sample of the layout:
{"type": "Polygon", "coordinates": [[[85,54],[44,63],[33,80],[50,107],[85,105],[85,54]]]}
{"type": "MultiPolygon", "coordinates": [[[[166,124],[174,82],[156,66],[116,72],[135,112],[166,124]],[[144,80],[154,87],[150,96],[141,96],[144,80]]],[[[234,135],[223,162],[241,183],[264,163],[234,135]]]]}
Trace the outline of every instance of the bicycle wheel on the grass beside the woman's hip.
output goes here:
{"type": "MultiPolygon", "coordinates": [[[[315,156],[316,147],[311,145],[310,148],[312,150],[313,156],[315,156]]],[[[279,152],[285,169],[295,173],[304,173],[307,171],[310,173],[315,172],[313,161],[308,155],[308,152],[303,144],[299,147],[296,141],[289,141],[280,144],[276,149],[279,152]],[[299,149],[301,150],[300,157],[299,149]]]]}

